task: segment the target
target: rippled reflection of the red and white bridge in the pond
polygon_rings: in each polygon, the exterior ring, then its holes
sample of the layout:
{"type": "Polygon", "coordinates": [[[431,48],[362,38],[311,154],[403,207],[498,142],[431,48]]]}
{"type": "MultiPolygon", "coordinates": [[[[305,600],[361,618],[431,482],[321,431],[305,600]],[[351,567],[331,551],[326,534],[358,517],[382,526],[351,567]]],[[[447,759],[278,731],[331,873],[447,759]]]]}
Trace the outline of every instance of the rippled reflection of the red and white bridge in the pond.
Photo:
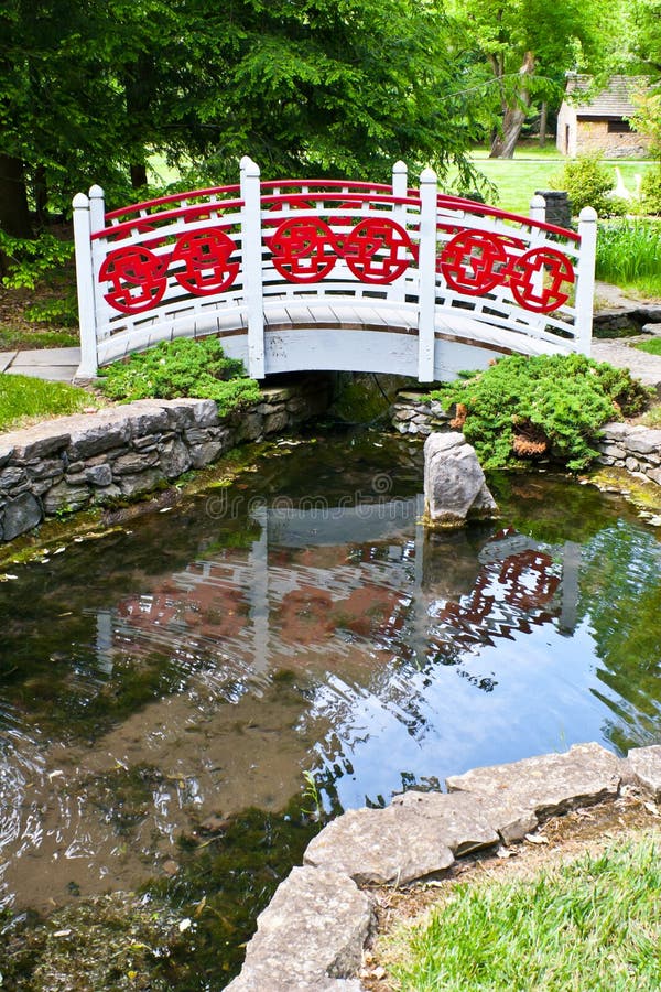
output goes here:
{"type": "Polygon", "coordinates": [[[553,619],[573,630],[578,546],[542,547],[502,531],[477,548],[465,531],[429,536],[421,513],[422,497],[260,507],[248,548],[192,562],[99,613],[99,651],[109,665],[134,634],[153,646],[166,637],[181,651],[215,646],[230,668],[238,662],[256,678],[291,665],[294,648],[310,660],[339,629],[404,659],[418,653],[419,665],[458,664],[472,646],[553,619]]]}

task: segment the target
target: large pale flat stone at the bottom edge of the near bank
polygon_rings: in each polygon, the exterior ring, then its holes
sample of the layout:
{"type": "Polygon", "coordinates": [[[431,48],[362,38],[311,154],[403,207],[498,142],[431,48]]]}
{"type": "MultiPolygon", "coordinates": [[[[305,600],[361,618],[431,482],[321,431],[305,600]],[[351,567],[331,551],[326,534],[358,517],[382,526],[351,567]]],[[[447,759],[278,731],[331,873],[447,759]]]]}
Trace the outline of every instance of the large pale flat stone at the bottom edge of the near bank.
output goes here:
{"type": "Polygon", "coordinates": [[[370,897],[346,875],[295,867],[257,921],[231,992],[359,992],[351,978],[375,923],[370,897]]]}

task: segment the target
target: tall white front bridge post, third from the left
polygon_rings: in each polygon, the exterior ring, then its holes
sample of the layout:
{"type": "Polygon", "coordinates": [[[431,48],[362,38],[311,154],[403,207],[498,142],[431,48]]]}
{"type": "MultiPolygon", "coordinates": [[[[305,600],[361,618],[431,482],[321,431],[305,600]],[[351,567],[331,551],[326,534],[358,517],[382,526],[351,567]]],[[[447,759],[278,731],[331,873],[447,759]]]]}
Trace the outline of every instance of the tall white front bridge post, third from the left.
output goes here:
{"type": "Polygon", "coordinates": [[[425,169],[420,176],[418,271],[418,379],[433,382],[436,311],[436,173],[433,169],[425,169]]]}

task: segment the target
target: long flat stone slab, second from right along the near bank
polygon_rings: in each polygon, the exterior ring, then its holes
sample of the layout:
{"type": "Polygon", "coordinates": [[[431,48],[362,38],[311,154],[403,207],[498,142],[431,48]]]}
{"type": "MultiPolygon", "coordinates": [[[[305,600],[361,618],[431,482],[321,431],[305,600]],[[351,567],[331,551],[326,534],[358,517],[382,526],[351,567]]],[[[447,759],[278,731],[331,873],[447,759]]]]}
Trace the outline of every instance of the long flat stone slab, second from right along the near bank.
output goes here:
{"type": "MultiPolygon", "coordinates": [[[[475,768],[446,779],[451,792],[465,791],[487,801],[490,815],[505,820],[527,812],[538,820],[614,799],[622,780],[622,764],[599,744],[575,744],[564,754],[545,754],[510,765],[475,768]]],[[[499,832],[516,839],[516,822],[499,832]],[[514,834],[511,830],[514,829],[514,834]]],[[[518,834],[519,838],[521,834],[518,834]]]]}

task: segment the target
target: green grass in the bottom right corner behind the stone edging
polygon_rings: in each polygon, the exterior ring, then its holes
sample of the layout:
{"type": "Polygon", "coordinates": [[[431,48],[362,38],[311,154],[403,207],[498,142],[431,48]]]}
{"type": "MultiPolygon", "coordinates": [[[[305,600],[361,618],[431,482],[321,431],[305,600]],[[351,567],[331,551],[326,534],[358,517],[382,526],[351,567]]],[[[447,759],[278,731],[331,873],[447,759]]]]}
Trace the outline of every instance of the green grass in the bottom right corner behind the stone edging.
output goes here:
{"type": "Polygon", "coordinates": [[[403,938],[398,988],[658,990],[660,854],[650,833],[532,878],[457,884],[431,921],[403,938]]]}

